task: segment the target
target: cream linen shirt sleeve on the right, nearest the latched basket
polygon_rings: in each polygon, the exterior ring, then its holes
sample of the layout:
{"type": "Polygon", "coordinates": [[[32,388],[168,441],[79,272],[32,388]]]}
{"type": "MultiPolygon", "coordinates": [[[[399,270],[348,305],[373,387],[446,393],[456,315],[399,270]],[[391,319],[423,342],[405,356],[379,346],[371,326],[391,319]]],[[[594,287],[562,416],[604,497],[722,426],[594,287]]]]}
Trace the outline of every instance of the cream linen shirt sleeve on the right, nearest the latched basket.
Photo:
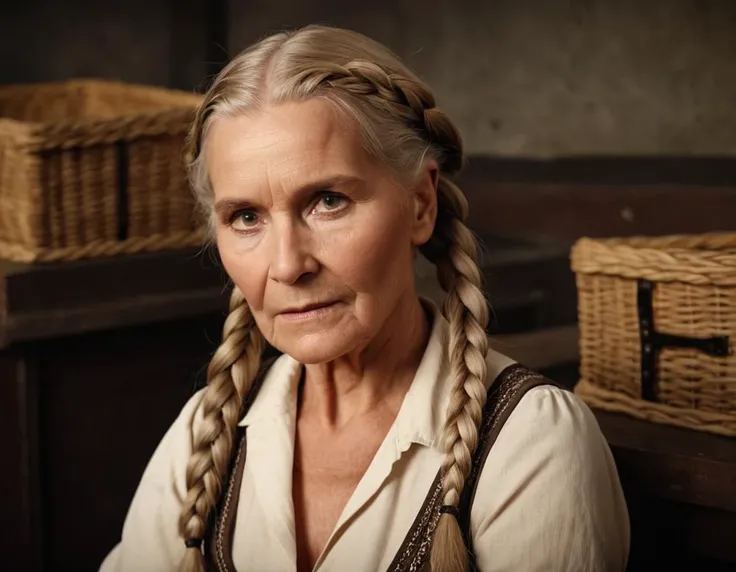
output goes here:
{"type": "Polygon", "coordinates": [[[478,481],[480,572],[619,572],[629,517],[608,444],[576,395],[534,388],[509,416],[478,481]]]}

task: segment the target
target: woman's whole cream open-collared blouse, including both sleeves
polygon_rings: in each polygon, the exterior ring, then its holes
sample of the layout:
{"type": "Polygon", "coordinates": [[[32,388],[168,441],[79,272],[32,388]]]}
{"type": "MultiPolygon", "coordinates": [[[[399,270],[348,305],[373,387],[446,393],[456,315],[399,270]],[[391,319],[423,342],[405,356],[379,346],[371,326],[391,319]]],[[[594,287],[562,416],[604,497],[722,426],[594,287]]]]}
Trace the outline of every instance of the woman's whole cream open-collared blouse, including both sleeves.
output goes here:
{"type": "MultiPolygon", "coordinates": [[[[433,311],[416,376],[315,572],[386,570],[440,468],[447,322],[433,311]]],[[[489,385],[513,363],[492,350],[487,361],[489,385]]],[[[233,538],[239,572],[296,571],[291,479],[300,373],[299,363],[281,356],[240,423],[248,452],[233,538]]],[[[101,572],[177,570],[185,550],[177,519],[201,396],[189,400],[153,454],[101,572]]],[[[629,520],[616,467],[595,417],[573,393],[540,386],[522,398],[481,472],[470,527],[481,572],[625,570],[629,520]]]]}

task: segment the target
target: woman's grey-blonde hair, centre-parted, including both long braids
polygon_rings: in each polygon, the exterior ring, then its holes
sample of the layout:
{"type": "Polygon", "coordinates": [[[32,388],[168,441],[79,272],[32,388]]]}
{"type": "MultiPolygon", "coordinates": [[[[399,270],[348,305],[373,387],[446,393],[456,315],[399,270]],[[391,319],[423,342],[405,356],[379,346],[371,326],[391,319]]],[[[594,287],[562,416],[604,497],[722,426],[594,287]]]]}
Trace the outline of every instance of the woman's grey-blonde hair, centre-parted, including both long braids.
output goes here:
{"type": "MultiPolygon", "coordinates": [[[[364,149],[387,165],[397,180],[413,180],[433,159],[439,166],[435,230],[420,251],[437,266],[447,292],[443,314],[450,323],[452,395],[443,433],[444,504],[457,506],[486,400],[488,306],[481,292],[476,243],[465,226],[465,197],[451,181],[463,163],[460,134],[436,106],[429,87],[388,48],[359,33],[325,26],[281,32],[254,44],[215,78],[197,111],[187,157],[199,208],[214,230],[213,189],[207,173],[207,134],[214,121],[258,112],[268,105],[321,97],[349,116],[364,149]]],[[[202,538],[222,494],[240,405],[252,385],[263,349],[262,336],[237,288],[203,396],[205,422],[195,436],[187,467],[187,498],[180,532],[202,538]]],[[[467,568],[457,519],[441,514],[432,545],[432,570],[467,568]]],[[[187,549],[186,572],[203,572],[201,550],[187,549]]]]}

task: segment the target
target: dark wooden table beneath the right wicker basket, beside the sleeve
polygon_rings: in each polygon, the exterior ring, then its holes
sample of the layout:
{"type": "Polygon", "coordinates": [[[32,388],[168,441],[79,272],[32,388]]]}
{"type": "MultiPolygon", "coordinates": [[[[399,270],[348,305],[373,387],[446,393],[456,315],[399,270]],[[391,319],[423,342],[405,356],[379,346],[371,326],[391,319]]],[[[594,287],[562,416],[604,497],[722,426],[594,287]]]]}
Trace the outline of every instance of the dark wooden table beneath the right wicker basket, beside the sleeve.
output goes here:
{"type": "Polygon", "coordinates": [[[736,439],[596,411],[624,486],[632,570],[736,570],[736,439]]]}

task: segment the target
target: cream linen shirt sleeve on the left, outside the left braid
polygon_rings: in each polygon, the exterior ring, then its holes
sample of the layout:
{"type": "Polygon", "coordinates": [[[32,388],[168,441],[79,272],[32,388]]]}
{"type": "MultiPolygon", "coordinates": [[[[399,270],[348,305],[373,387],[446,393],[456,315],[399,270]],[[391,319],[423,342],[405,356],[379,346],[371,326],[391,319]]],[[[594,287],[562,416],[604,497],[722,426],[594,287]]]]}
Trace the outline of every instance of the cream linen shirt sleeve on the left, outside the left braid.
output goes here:
{"type": "Polygon", "coordinates": [[[202,391],[184,406],[156,448],[128,509],[122,537],[100,572],[176,572],[184,556],[178,519],[186,496],[193,419],[202,391]]]}

